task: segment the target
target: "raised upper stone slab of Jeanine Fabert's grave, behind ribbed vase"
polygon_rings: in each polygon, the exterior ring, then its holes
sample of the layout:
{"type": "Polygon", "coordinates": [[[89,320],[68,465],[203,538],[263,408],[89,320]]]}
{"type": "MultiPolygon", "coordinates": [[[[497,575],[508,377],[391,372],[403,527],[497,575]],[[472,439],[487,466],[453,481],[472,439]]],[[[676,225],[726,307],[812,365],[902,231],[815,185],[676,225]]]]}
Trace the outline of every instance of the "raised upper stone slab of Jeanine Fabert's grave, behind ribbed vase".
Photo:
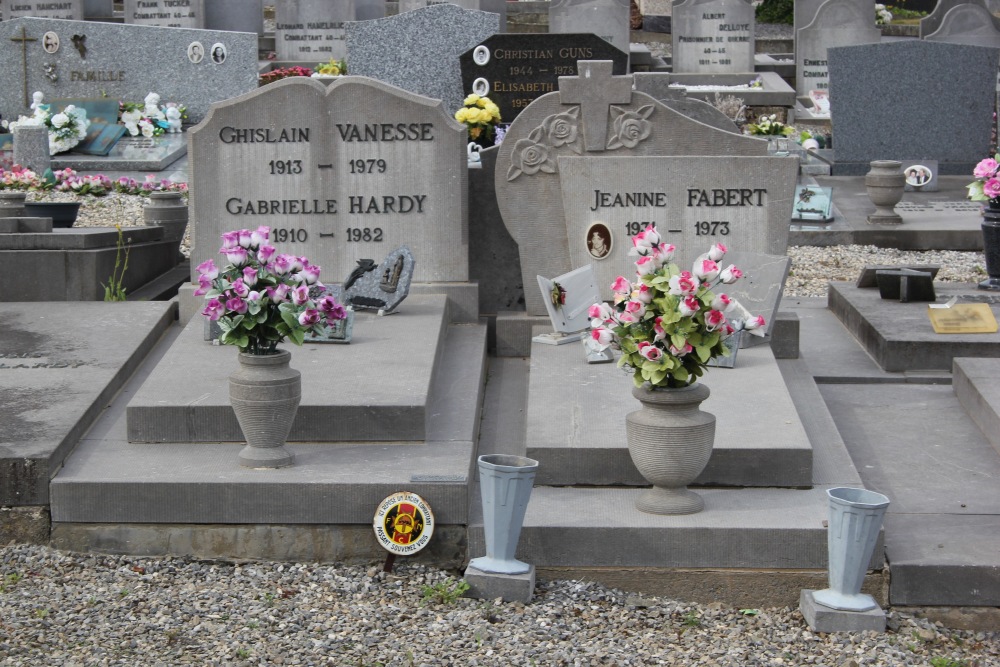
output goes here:
{"type": "MultiPolygon", "coordinates": [[[[739,350],[735,368],[703,381],[716,433],[697,484],[812,486],[812,446],[769,347],[739,350]]],[[[647,484],[625,443],[625,415],[639,408],[632,386],[615,364],[587,364],[579,344],[532,347],[526,453],[542,464],[537,484],[647,484]]]]}

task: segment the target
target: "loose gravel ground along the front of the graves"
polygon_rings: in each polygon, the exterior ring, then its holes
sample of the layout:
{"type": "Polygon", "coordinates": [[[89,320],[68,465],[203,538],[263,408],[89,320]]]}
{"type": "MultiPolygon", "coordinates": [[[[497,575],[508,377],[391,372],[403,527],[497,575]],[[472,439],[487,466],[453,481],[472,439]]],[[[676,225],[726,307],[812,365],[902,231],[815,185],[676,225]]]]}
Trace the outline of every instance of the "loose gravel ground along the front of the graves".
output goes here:
{"type": "Polygon", "coordinates": [[[811,632],[795,609],[541,582],[531,604],[446,599],[447,572],[0,549],[0,665],[1000,664],[1000,634],[891,612],[811,632]]]}

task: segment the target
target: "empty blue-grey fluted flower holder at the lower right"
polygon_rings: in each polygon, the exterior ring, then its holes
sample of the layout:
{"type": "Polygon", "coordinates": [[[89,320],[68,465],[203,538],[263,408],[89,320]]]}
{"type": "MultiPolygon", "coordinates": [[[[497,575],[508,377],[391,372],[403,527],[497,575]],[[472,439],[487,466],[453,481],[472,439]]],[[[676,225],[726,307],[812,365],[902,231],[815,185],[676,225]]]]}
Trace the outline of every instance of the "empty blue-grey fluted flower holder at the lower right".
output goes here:
{"type": "Polygon", "coordinates": [[[843,611],[868,611],[878,607],[875,599],[861,593],[865,572],[882,529],[889,499],[865,489],[837,487],[826,492],[830,499],[827,551],[830,588],[816,591],[813,599],[824,607],[843,611]]]}

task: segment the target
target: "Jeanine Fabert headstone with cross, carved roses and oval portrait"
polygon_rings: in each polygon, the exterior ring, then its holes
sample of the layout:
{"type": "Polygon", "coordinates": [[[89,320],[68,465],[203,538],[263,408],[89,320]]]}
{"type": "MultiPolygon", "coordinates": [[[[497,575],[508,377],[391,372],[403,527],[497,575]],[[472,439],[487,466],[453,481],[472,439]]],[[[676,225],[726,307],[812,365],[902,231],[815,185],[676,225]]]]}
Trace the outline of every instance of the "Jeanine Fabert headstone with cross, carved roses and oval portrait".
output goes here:
{"type": "MultiPolygon", "coordinates": [[[[497,202],[523,284],[590,262],[611,275],[625,265],[629,236],[648,222],[678,239],[681,263],[729,239],[752,246],[733,250],[784,253],[795,158],[767,157],[764,141],[633,91],[632,77],[613,76],[610,62],[581,61],[579,70],[517,117],[497,154],[497,202]],[[724,166],[741,159],[741,168],[724,166]]],[[[536,290],[525,290],[525,300],[528,314],[546,313],[536,290]]]]}

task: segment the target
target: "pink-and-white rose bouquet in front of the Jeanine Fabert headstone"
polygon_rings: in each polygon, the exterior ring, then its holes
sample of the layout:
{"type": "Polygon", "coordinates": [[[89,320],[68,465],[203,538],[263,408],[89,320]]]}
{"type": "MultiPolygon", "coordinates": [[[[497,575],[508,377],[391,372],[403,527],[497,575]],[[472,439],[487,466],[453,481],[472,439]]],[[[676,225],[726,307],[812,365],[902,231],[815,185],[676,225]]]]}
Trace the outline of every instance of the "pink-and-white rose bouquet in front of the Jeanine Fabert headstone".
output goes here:
{"type": "Polygon", "coordinates": [[[720,262],[726,246],[713,245],[690,271],[672,263],[676,248],[664,243],[655,225],[632,237],[630,255],[638,255],[636,280],[619,276],[611,285],[613,305],[590,307],[591,337],[601,349],[622,352],[619,367],[632,372],[637,387],[683,387],[704,374],[708,363],[729,350],[724,341],[743,330],[763,336],[760,315],[730,320],[736,302],[712,289],[730,285],[743,272],[720,262]]]}

